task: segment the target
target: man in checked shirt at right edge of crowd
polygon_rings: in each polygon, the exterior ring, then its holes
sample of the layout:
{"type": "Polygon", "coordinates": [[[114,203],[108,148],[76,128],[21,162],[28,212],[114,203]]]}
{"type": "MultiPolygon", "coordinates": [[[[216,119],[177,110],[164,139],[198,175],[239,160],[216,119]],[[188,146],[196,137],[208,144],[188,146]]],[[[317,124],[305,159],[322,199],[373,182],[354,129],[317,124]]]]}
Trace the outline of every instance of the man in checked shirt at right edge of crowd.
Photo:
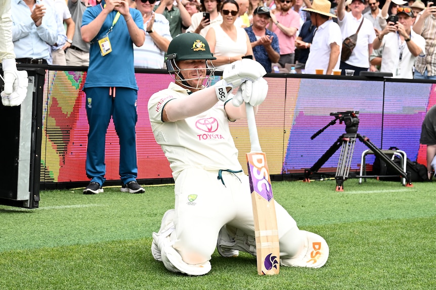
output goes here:
{"type": "Polygon", "coordinates": [[[413,25],[413,31],[424,37],[428,53],[416,59],[415,79],[436,80],[436,6],[431,5],[433,2],[427,3],[427,8],[418,14],[413,25]]]}

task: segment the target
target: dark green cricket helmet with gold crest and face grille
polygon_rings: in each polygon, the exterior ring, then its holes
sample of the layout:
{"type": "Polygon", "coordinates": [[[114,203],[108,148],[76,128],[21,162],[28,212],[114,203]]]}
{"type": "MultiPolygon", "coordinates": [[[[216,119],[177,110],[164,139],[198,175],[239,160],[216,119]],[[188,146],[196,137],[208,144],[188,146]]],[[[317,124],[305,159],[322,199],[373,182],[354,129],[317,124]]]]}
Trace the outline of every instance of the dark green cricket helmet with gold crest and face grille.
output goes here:
{"type": "Polygon", "coordinates": [[[176,82],[180,82],[182,85],[191,89],[199,89],[202,86],[207,87],[210,85],[210,81],[214,76],[215,67],[211,62],[207,61],[212,60],[216,60],[216,57],[210,52],[209,44],[206,39],[200,34],[190,32],[179,34],[173,38],[169,43],[167,54],[165,55],[168,73],[176,82]],[[180,69],[177,65],[180,61],[189,60],[204,60],[206,68],[180,69]],[[201,77],[186,79],[183,76],[183,71],[188,70],[206,70],[206,74],[202,76],[202,74],[199,73],[197,75],[201,75],[201,77]],[[195,81],[197,85],[190,85],[188,84],[189,81],[195,81]]]}

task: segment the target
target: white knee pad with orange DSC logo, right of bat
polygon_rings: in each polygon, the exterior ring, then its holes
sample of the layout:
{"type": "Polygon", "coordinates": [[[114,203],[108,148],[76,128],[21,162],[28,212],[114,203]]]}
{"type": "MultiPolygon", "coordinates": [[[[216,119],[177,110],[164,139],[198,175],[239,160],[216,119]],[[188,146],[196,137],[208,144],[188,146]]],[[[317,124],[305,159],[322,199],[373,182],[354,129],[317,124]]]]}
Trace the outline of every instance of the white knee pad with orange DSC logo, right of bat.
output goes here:
{"type": "Polygon", "coordinates": [[[319,235],[310,231],[300,230],[303,246],[298,254],[291,259],[281,259],[283,266],[320,268],[327,262],[329,248],[327,242],[319,235]]]}

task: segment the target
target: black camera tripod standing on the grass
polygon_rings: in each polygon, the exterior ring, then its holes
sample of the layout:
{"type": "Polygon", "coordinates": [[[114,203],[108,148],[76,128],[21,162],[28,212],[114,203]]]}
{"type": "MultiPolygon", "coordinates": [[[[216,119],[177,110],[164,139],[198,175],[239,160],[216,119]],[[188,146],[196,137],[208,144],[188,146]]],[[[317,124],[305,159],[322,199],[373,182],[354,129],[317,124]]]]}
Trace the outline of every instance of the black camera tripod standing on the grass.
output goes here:
{"type": "MultiPolygon", "coordinates": [[[[380,149],[378,149],[370,140],[365,136],[361,136],[357,133],[359,127],[359,111],[345,111],[345,112],[335,112],[330,113],[335,119],[330,121],[327,126],[315,133],[311,139],[315,139],[329,126],[334,125],[337,120],[339,124],[345,123],[345,134],[339,136],[336,142],[330,146],[330,148],[318,159],[315,164],[309,168],[304,169],[304,181],[309,182],[309,177],[317,172],[322,165],[339,149],[341,148],[339,161],[336,168],[336,191],[343,191],[343,182],[348,179],[348,173],[350,173],[351,161],[353,157],[354,147],[356,145],[356,139],[365,144],[375,156],[383,160],[387,166],[394,169],[399,176],[406,179],[406,186],[412,186],[410,172],[404,172],[403,169],[398,166],[394,161],[392,161],[386,154],[384,154],[380,149]]],[[[363,166],[363,164],[361,164],[363,166]]]]}

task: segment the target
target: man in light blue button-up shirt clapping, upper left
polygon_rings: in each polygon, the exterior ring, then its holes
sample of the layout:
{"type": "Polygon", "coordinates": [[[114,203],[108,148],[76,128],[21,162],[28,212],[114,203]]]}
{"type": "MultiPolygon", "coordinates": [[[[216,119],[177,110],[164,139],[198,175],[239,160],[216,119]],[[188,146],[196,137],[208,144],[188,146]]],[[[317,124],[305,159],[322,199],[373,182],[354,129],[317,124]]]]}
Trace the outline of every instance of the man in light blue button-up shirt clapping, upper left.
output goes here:
{"type": "Polygon", "coordinates": [[[17,63],[47,64],[58,40],[54,11],[40,0],[12,0],[12,41],[17,63]]]}

